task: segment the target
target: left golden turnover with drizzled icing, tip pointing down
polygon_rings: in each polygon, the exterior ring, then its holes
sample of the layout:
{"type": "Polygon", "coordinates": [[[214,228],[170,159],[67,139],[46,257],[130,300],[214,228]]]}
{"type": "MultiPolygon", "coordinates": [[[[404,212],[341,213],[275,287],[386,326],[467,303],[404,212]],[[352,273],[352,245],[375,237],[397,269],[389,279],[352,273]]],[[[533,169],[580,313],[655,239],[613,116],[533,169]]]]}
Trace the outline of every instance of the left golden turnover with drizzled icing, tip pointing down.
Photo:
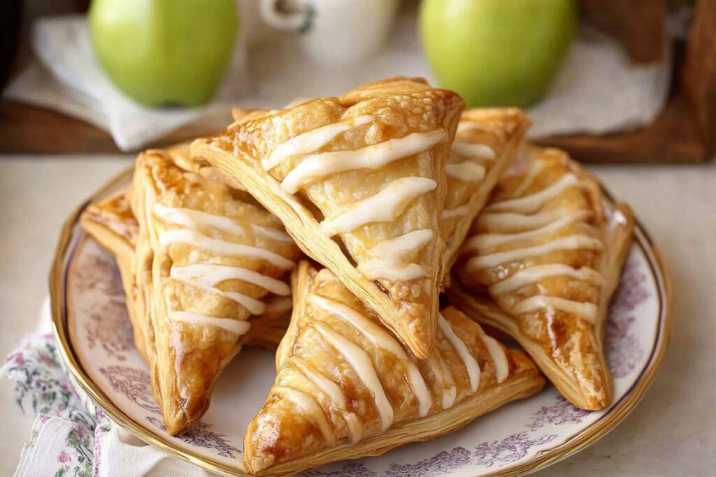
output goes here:
{"type": "Polygon", "coordinates": [[[147,317],[153,391],[173,435],[208,408],[216,377],[238,353],[248,319],[266,311],[269,293],[290,295],[281,278],[298,247],[276,217],[238,197],[164,152],[137,158],[137,310],[147,317]]]}

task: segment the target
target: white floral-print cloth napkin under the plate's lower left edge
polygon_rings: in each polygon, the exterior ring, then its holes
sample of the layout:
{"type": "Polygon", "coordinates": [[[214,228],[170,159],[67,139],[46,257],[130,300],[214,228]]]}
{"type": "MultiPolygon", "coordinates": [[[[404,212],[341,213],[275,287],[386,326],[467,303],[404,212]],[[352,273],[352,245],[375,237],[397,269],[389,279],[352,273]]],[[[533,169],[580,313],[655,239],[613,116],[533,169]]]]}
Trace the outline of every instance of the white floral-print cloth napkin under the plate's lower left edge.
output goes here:
{"type": "Polygon", "coordinates": [[[49,328],[46,300],[39,331],[10,353],[0,368],[0,375],[14,383],[20,408],[36,415],[16,477],[216,476],[112,423],[69,382],[49,328]]]}

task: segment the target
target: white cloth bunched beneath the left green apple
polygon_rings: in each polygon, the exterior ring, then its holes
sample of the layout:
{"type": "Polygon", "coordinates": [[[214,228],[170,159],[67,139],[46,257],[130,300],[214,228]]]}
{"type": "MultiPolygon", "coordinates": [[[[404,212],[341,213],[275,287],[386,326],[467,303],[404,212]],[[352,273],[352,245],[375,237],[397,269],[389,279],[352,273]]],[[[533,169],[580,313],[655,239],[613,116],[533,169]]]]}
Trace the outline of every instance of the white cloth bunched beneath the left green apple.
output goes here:
{"type": "MultiPolygon", "coordinates": [[[[122,94],[97,63],[84,16],[40,19],[32,29],[40,64],[16,77],[5,96],[79,117],[105,129],[123,151],[138,149],[185,124],[203,121],[221,129],[231,105],[247,90],[246,55],[238,44],[215,99],[204,107],[148,108],[122,94]]],[[[211,130],[211,128],[210,128],[211,130]]]]}

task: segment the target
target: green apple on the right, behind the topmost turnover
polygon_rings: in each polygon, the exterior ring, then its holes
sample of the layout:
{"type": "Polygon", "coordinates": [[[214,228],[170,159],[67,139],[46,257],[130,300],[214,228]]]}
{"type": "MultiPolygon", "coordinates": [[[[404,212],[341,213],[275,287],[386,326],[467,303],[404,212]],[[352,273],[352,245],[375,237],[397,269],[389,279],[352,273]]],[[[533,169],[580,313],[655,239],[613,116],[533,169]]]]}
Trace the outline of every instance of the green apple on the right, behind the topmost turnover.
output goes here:
{"type": "Polygon", "coordinates": [[[424,0],[422,46],[441,87],[470,107],[540,99],[574,38],[574,0],[424,0]]]}

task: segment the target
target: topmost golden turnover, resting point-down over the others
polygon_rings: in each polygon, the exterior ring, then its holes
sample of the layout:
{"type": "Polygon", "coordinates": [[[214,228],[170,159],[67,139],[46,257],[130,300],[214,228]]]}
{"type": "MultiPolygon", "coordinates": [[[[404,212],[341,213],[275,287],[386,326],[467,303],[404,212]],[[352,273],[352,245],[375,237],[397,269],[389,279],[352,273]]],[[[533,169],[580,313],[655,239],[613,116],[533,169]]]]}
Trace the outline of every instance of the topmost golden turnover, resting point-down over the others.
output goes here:
{"type": "Polygon", "coordinates": [[[442,281],[445,159],[463,101],[417,79],[240,120],[192,144],[235,177],[420,358],[442,281]]]}

